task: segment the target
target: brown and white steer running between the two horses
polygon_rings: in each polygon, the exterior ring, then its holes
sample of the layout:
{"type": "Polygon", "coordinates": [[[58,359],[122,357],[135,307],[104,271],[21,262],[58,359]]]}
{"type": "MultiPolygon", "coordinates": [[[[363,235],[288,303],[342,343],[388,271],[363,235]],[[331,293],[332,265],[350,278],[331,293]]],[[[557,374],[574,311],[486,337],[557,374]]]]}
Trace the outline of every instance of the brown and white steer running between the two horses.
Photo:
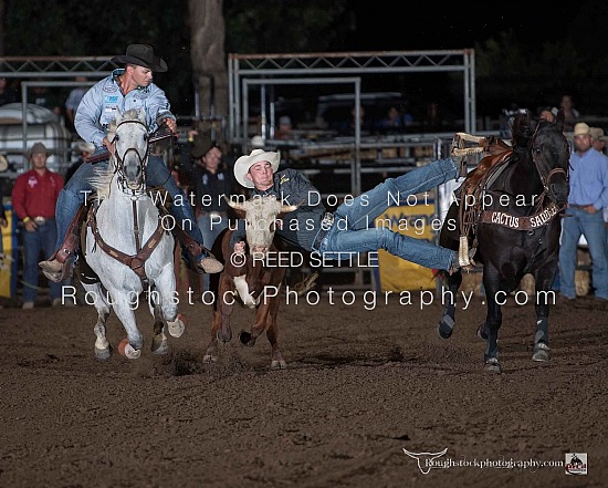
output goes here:
{"type": "MultiPolygon", "coordinates": [[[[273,243],[276,221],[297,206],[283,206],[273,196],[253,197],[242,204],[229,201],[239,218],[247,221],[247,246],[244,255],[234,253],[230,246],[233,230],[228,229],[221,238],[221,259],[224,269],[214,290],[213,325],[211,342],[203,356],[205,362],[218,361],[219,342],[228,343],[232,339],[230,315],[234,303],[240,302],[255,309],[255,319],[249,331],[241,331],[239,340],[247,346],[253,346],[262,332],[271,344],[271,368],[287,367],[276,341],[276,316],[279,295],[285,268],[268,266],[276,263],[273,243]],[[269,258],[266,261],[265,258],[269,258]]],[[[214,281],[214,280],[213,280],[214,281]]]]}

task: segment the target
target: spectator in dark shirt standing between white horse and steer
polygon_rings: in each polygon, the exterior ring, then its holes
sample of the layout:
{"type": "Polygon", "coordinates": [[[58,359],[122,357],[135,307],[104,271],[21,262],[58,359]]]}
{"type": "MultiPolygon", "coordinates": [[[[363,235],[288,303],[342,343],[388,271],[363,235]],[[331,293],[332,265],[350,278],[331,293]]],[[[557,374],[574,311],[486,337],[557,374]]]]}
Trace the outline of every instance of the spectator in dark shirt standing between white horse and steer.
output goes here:
{"type": "MultiPolygon", "coordinates": [[[[188,155],[189,152],[184,154],[188,155]]],[[[222,164],[222,150],[211,144],[199,158],[185,157],[181,169],[189,174],[195,195],[195,215],[202,240],[210,248],[228,227],[228,205],[222,197],[234,193],[232,170],[222,164]]],[[[202,291],[209,290],[209,274],[202,274],[202,291]]]]}

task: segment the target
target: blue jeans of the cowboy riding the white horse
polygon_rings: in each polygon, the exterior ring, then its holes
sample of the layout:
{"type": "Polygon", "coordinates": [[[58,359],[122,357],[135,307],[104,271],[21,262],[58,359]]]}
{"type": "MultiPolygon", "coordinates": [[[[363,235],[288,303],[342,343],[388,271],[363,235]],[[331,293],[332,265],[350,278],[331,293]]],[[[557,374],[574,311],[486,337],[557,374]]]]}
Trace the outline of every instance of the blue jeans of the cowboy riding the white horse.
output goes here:
{"type": "MultiPolygon", "coordinates": [[[[93,156],[95,156],[99,149],[97,149],[93,156]]],[[[95,176],[97,169],[106,169],[108,163],[83,164],[74,173],[74,175],[67,181],[67,185],[61,190],[57,199],[57,207],[55,210],[55,218],[57,221],[57,238],[55,242],[55,249],[57,250],[65,239],[67,228],[72,222],[72,219],[78,211],[81,204],[84,204],[86,196],[91,195],[93,187],[91,186],[91,179],[95,176]],[[87,193],[88,191],[88,193],[87,193]]],[[[171,205],[171,214],[178,225],[181,225],[192,239],[202,245],[202,236],[198,226],[196,225],[195,212],[190,205],[188,197],[181,188],[177,186],[177,181],[171,176],[169,168],[165,165],[165,162],[158,156],[149,156],[147,166],[147,181],[148,186],[163,186],[167,193],[174,199],[171,205]],[[180,195],[178,199],[181,201],[176,203],[176,197],[180,195]],[[178,205],[184,203],[184,205],[178,205]]]]}

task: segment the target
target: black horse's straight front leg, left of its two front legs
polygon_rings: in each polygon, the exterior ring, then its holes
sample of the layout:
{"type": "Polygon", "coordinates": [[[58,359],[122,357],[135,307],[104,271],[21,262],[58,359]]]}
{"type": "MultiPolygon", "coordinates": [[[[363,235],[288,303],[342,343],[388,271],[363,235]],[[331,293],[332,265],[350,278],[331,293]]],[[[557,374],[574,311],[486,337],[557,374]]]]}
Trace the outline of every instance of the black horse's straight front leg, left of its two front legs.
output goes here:
{"type": "Polygon", "coordinates": [[[499,300],[506,300],[507,293],[499,288],[499,273],[491,267],[483,271],[483,285],[485,288],[485,300],[488,311],[485,322],[478,328],[478,335],[486,343],[484,362],[485,371],[489,373],[502,373],[499,362],[499,329],[502,324],[502,311],[499,300]]]}

